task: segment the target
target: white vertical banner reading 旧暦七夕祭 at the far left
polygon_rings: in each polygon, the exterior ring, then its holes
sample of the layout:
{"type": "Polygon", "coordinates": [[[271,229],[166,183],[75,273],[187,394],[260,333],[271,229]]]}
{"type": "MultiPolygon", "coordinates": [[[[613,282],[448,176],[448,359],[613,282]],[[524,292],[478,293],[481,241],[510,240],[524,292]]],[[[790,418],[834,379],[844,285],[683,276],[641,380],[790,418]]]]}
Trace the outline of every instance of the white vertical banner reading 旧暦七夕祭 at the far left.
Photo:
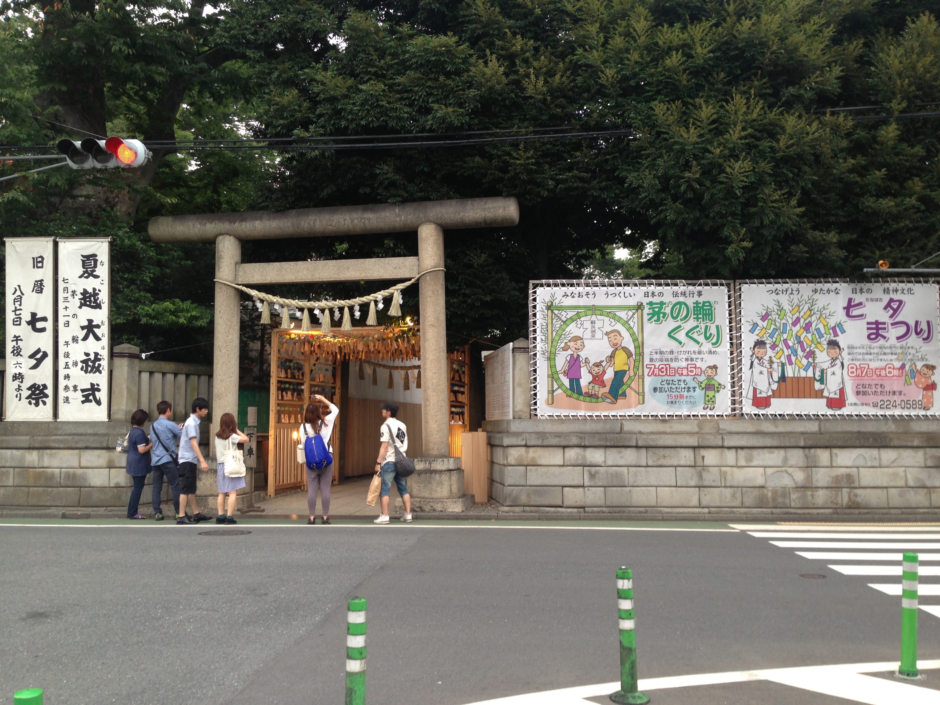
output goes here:
{"type": "Polygon", "coordinates": [[[52,238],[7,238],[8,421],[53,420],[52,238]]]}

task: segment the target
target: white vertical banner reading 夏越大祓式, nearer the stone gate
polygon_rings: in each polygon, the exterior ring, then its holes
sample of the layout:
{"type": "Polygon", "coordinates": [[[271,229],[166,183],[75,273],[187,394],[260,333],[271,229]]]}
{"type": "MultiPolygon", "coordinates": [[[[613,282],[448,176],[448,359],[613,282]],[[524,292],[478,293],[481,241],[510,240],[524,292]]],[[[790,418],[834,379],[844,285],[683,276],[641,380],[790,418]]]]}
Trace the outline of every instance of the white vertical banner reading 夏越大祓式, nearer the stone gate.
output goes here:
{"type": "Polygon", "coordinates": [[[106,421],[110,336],[107,238],[58,241],[58,419],[106,421]]]}

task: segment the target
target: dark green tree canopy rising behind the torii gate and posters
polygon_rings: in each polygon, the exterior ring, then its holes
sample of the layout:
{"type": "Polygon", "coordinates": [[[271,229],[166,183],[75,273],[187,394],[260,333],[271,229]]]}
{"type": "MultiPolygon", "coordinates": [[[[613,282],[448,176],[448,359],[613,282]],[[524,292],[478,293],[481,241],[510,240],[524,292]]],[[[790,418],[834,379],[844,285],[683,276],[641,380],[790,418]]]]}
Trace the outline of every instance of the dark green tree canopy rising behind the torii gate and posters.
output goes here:
{"type": "MultiPolygon", "coordinates": [[[[525,336],[534,278],[857,277],[878,259],[903,266],[940,250],[940,120],[916,115],[940,104],[940,25],[926,0],[6,8],[6,145],[74,134],[63,125],[299,142],[619,132],[439,148],[166,149],[131,176],[58,170],[4,182],[8,230],[108,223],[129,264],[156,268],[116,296],[116,334],[141,344],[156,336],[172,347],[209,325],[211,269],[199,268],[211,267],[211,249],[149,243],[146,220],[164,213],[517,196],[518,227],[447,233],[454,344],[525,336]]],[[[250,243],[244,255],[415,246],[369,236],[250,243]]],[[[406,295],[405,312],[415,309],[406,295]]]]}

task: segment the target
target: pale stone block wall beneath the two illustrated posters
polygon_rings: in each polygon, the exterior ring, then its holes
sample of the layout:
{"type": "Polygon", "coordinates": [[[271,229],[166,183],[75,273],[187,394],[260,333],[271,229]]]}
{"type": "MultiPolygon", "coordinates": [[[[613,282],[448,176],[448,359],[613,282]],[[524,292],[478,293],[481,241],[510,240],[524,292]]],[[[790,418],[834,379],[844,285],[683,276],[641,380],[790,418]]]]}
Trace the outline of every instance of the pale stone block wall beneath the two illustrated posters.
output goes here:
{"type": "Polygon", "coordinates": [[[511,419],[484,429],[503,510],[940,513],[932,420],[511,419]]]}

